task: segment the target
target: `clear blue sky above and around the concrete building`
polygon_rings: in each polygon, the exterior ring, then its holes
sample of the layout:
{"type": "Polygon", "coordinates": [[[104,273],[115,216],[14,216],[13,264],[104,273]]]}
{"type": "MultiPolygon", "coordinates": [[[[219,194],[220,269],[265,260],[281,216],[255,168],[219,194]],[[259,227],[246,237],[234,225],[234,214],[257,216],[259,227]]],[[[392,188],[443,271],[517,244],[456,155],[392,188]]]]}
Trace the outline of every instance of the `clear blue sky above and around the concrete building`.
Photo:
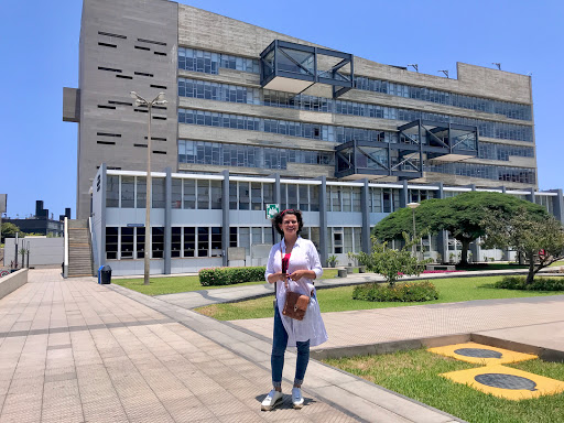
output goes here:
{"type": "MultiPolygon", "coordinates": [[[[182,0],[378,63],[456,77],[456,62],[532,73],[541,189],[564,188],[564,2],[182,0]],[[561,105],[561,106],[558,106],[561,105]]],[[[3,83],[0,193],[8,216],[76,212],[77,123],[63,122],[63,87],[78,87],[80,0],[0,0],[3,83]]]]}

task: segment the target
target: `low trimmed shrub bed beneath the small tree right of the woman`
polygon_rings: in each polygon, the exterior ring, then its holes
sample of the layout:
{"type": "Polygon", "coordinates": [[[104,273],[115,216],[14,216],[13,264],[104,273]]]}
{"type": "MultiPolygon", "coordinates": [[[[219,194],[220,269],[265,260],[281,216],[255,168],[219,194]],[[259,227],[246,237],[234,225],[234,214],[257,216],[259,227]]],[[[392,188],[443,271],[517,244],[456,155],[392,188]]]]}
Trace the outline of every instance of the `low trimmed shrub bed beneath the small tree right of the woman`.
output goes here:
{"type": "Polygon", "coordinates": [[[438,291],[429,281],[397,283],[393,286],[367,283],[355,286],[352,299],[380,302],[422,302],[438,299],[438,291]]]}

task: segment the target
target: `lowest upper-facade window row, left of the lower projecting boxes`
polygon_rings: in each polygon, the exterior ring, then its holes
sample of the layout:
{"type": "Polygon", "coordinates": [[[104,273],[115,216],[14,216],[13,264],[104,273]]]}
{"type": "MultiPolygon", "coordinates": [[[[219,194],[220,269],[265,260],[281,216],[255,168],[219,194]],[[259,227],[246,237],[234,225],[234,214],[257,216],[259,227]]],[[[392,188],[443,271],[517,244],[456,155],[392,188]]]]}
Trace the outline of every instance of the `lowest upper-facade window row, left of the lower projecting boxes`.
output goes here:
{"type": "Polygon", "coordinates": [[[178,140],[180,163],[285,170],[288,163],[333,165],[334,158],[333,152],[178,140]]]}

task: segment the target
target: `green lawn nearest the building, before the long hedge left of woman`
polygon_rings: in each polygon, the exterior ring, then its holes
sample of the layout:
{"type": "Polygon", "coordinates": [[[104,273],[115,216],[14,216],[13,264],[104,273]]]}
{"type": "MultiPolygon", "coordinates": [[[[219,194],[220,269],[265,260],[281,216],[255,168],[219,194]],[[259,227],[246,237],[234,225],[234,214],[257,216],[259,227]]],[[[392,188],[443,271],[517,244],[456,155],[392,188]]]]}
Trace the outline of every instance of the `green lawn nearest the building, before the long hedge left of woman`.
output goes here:
{"type": "MultiPolygon", "coordinates": [[[[337,269],[324,269],[322,279],[337,278],[337,269]]],[[[128,288],[132,291],[140,292],[145,295],[163,295],[175,294],[178,292],[191,292],[199,290],[215,290],[223,286],[202,286],[198,276],[171,276],[171,278],[151,278],[149,285],[143,284],[143,279],[112,279],[111,282],[128,288]]],[[[245,286],[263,284],[264,281],[259,282],[245,282],[237,285],[227,286],[245,286]]]]}

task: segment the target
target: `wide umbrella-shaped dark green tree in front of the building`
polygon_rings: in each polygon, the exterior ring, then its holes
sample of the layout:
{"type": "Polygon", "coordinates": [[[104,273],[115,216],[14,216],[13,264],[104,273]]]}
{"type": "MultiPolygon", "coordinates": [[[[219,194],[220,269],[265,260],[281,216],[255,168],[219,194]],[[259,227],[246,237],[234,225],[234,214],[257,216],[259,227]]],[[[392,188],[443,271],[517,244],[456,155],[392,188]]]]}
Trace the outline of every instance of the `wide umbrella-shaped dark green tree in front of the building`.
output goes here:
{"type": "MultiPolygon", "coordinates": [[[[447,230],[463,246],[460,264],[468,264],[470,243],[486,234],[486,226],[495,214],[512,216],[519,210],[527,215],[546,217],[541,206],[509,194],[468,192],[444,199],[426,199],[415,208],[417,232],[426,229],[430,234],[447,230]]],[[[383,218],[373,228],[373,235],[381,240],[392,240],[402,232],[413,232],[412,210],[402,208],[383,218]]]]}

